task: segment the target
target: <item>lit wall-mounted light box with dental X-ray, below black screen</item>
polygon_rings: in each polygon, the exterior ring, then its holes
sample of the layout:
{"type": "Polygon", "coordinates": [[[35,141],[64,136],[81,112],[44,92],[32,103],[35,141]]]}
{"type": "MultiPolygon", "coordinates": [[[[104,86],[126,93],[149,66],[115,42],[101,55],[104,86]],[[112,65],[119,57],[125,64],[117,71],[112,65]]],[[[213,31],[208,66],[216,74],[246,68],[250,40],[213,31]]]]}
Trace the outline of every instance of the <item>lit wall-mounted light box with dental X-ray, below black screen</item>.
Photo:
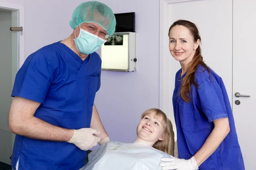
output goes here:
{"type": "Polygon", "coordinates": [[[118,32],[101,47],[102,70],[136,71],[136,33],[118,32]]]}

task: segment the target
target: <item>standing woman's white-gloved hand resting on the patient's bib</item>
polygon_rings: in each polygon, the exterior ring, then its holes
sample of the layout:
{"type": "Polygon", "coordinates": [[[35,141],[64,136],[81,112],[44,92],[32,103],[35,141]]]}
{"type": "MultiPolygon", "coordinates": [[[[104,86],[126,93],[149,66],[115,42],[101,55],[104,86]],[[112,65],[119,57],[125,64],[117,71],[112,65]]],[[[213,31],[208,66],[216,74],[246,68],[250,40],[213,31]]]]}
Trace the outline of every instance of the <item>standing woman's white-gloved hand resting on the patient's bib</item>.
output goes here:
{"type": "Polygon", "coordinates": [[[164,161],[160,164],[162,170],[198,170],[194,156],[188,160],[173,157],[162,158],[161,161],[164,161]]]}

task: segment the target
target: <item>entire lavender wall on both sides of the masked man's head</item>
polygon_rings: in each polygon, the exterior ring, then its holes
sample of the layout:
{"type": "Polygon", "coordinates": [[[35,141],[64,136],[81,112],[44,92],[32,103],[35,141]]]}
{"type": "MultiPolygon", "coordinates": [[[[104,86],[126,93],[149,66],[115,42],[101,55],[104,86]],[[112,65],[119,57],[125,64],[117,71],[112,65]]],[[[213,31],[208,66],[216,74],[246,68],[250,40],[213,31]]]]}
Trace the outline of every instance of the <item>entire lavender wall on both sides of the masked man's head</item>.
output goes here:
{"type": "MultiPolygon", "coordinates": [[[[81,0],[2,0],[25,7],[25,56],[72,33],[81,0]]],[[[159,0],[99,0],[114,13],[135,12],[137,71],[102,71],[95,104],[111,140],[134,142],[140,115],[159,107],[159,0]]]]}

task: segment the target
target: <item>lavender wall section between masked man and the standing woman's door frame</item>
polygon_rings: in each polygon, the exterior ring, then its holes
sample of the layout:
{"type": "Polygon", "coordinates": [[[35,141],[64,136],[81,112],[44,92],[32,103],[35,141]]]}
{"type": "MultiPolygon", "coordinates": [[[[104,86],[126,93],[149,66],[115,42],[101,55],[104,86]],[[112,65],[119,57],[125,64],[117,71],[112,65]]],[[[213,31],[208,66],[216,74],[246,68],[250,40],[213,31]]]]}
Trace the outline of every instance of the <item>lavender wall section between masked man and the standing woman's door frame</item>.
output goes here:
{"type": "Polygon", "coordinates": [[[137,71],[102,71],[102,86],[95,100],[111,140],[134,142],[143,111],[159,107],[159,0],[101,2],[114,13],[136,15],[137,71]]]}

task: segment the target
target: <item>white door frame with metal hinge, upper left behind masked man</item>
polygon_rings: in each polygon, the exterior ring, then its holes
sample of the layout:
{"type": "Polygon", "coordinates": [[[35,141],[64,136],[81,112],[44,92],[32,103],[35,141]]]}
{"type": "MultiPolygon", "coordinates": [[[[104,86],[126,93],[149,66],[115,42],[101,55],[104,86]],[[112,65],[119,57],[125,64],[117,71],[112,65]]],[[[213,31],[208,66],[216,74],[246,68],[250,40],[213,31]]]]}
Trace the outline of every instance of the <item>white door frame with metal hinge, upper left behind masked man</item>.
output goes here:
{"type": "Polygon", "coordinates": [[[14,11],[18,11],[19,26],[23,27],[23,35],[18,34],[18,69],[23,65],[25,61],[25,42],[24,42],[24,6],[14,3],[0,2],[0,8],[7,8],[14,11]]]}

